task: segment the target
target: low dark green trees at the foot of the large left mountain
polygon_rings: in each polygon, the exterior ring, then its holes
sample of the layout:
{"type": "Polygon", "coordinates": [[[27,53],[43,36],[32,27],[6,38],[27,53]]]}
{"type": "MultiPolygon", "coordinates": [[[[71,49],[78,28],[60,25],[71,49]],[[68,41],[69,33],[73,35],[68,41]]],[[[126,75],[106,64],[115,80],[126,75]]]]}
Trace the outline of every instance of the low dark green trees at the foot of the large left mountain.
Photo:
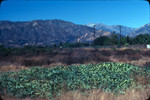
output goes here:
{"type": "Polygon", "coordinates": [[[78,48],[89,46],[88,43],[64,43],[53,46],[24,46],[21,48],[12,48],[0,46],[0,56],[10,56],[10,55],[39,55],[39,54],[52,54],[54,49],[57,48],[78,48]]]}

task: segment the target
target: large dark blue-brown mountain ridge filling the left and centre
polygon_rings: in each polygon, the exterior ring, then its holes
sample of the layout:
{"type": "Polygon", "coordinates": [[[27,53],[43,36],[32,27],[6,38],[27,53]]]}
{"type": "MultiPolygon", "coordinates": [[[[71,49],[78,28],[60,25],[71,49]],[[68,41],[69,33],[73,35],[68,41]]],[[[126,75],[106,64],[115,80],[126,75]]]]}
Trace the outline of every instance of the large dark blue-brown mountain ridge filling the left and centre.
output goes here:
{"type": "MultiPolygon", "coordinates": [[[[0,21],[0,44],[5,46],[51,45],[60,42],[90,42],[94,29],[63,20],[0,21]]],[[[96,37],[110,32],[96,30],[96,37]]]]}

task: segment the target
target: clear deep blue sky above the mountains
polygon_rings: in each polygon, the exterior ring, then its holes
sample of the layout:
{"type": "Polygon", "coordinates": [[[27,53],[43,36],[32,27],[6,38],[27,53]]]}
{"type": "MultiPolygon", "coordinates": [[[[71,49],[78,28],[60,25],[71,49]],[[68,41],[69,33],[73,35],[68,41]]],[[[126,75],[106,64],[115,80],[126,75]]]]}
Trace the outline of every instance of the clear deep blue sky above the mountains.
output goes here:
{"type": "Polygon", "coordinates": [[[0,20],[60,19],[75,24],[103,23],[138,28],[149,23],[149,13],[148,2],[142,0],[7,0],[0,7],[0,20]]]}

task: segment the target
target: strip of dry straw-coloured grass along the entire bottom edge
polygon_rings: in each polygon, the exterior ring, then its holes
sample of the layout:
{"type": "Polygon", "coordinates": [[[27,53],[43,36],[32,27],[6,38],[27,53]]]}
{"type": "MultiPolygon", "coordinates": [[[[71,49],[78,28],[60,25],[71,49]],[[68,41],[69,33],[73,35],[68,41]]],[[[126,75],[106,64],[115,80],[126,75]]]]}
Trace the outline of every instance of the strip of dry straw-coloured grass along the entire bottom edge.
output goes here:
{"type": "MultiPolygon", "coordinates": [[[[55,100],[147,100],[150,97],[150,89],[143,90],[127,90],[125,94],[115,95],[101,90],[90,90],[86,94],[79,91],[71,91],[62,93],[60,96],[54,98],[55,100]]],[[[45,98],[14,98],[2,96],[3,100],[51,100],[45,98]]]]}

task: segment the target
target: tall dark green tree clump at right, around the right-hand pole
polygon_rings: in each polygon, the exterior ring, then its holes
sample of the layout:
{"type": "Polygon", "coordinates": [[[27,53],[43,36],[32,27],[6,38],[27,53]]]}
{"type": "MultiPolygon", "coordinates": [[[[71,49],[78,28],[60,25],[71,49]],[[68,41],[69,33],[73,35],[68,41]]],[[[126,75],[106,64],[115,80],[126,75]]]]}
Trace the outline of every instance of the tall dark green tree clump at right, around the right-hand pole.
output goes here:
{"type": "Polygon", "coordinates": [[[95,46],[109,46],[109,45],[140,45],[140,44],[150,44],[150,34],[139,34],[135,37],[121,36],[114,32],[110,37],[100,36],[93,41],[95,46]],[[120,41],[119,41],[120,39],[120,41]]]}

